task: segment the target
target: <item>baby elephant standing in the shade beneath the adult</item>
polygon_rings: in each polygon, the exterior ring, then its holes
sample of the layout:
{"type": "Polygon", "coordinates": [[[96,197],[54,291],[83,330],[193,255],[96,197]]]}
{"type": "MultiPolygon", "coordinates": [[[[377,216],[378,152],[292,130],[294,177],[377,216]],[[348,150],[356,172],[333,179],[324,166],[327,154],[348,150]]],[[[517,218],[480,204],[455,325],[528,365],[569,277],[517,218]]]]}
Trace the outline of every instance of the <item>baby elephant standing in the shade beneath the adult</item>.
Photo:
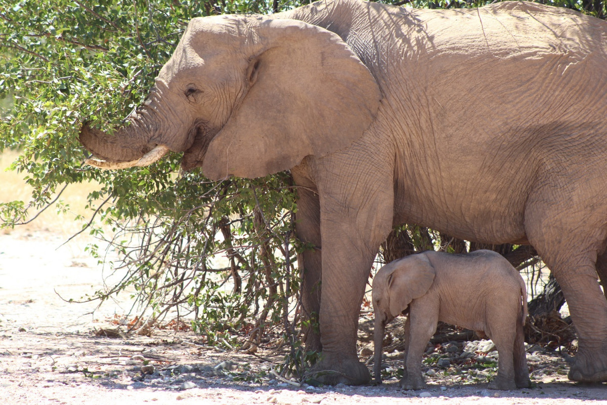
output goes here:
{"type": "Polygon", "coordinates": [[[421,356],[438,321],[483,331],[492,339],[499,367],[490,389],[531,384],[523,335],[527,290],[521,275],[500,254],[426,251],[394,260],[378,271],[373,279],[378,383],[385,325],[407,308],[404,389],[424,387],[421,356]]]}

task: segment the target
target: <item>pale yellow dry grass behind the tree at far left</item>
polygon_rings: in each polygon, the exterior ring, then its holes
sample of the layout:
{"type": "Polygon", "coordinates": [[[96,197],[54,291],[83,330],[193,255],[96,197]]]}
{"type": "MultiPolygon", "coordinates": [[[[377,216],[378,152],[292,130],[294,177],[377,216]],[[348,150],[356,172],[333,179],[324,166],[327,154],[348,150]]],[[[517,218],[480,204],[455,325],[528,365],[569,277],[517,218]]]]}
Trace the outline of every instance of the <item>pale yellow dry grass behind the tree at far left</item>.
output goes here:
{"type": "MultiPolygon", "coordinates": [[[[18,152],[5,151],[0,154],[0,202],[9,202],[21,200],[27,204],[32,196],[32,188],[25,183],[24,173],[7,170],[18,157],[18,152]]],[[[67,186],[66,191],[61,195],[61,200],[69,204],[70,212],[67,214],[57,213],[55,206],[46,209],[38,218],[27,225],[19,225],[15,230],[3,230],[2,232],[33,232],[33,231],[52,231],[59,236],[71,236],[82,229],[84,220],[76,220],[76,216],[81,215],[90,218],[92,211],[86,209],[87,196],[90,191],[98,188],[95,183],[81,183],[67,186]]],[[[32,213],[32,216],[35,213],[32,213]]]]}

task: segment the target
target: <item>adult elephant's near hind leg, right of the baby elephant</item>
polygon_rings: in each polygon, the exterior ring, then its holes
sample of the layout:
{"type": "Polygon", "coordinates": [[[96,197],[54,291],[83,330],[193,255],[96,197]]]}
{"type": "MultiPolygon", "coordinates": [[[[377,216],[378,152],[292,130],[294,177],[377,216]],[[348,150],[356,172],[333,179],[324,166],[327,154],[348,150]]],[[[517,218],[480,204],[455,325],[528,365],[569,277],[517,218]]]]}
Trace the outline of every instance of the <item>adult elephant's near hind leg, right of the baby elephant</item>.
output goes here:
{"type": "Polygon", "coordinates": [[[607,215],[576,208],[534,207],[526,213],[525,229],[561,286],[577,331],[579,348],[569,379],[593,383],[607,381],[607,299],[596,269],[597,253],[604,250],[607,237],[596,224],[605,223],[607,215]]]}

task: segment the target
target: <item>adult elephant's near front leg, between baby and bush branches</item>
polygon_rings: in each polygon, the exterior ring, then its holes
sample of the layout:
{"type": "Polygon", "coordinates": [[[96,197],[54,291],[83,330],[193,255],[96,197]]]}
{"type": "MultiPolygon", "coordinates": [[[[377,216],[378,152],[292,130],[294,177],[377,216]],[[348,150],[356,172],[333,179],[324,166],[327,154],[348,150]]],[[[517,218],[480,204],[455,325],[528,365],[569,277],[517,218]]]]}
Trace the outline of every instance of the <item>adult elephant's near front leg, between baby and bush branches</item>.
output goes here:
{"type": "MultiPolygon", "coordinates": [[[[323,209],[321,198],[322,358],[313,368],[324,384],[366,384],[367,366],[358,359],[358,319],[371,265],[392,228],[392,200],[372,207],[323,209]]],[[[333,207],[334,208],[334,207],[333,207]]]]}

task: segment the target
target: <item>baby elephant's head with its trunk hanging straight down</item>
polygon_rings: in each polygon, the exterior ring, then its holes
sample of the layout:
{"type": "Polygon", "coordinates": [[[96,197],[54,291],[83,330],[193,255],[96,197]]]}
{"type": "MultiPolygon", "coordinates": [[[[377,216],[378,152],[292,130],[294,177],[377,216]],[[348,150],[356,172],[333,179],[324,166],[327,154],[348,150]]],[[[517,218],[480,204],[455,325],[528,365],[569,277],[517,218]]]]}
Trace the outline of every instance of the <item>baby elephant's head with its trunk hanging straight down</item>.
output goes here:
{"type": "Polygon", "coordinates": [[[388,263],[373,277],[373,330],[375,351],[373,373],[381,382],[381,355],[385,325],[407,309],[413,299],[426,294],[432,286],[436,271],[425,254],[415,254],[388,263]]]}

